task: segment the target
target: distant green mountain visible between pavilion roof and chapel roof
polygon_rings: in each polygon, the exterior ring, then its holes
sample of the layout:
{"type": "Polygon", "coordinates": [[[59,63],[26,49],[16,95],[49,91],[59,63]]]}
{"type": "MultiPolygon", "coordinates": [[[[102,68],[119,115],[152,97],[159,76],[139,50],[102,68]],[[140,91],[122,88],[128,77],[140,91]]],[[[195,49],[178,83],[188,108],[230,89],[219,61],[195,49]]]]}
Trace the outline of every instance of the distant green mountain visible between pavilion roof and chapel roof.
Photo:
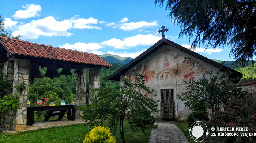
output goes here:
{"type": "Polygon", "coordinates": [[[105,60],[108,63],[120,63],[120,64],[127,64],[131,60],[133,60],[131,57],[120,57],[118,55],[112,55],[112,54],[104,54],[104,55],[98,55],[103,60],[105,60]]]}

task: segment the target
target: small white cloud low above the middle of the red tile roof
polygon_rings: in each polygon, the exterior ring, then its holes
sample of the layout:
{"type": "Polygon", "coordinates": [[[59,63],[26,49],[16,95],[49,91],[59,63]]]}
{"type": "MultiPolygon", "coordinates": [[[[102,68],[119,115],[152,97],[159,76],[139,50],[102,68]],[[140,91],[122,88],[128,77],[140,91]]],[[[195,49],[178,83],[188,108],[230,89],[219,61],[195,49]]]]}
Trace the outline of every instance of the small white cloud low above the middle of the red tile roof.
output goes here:
{"type": "MultiPolygon", "coordinates": [[[[75,43],[75,44],[69,44],[66,43],[64,45],[60,46],[61,48],[65,48],[65,49],[74,49],[74,50],[78,50],[78,51],[83,51],[83,52],[88,52],[88,53],[95,53],[97,49],[102,48],[101,45],[97,44],[97,43],[75,43]]],[[[98,53],[96,53],[98,54],[98,53]]]]}

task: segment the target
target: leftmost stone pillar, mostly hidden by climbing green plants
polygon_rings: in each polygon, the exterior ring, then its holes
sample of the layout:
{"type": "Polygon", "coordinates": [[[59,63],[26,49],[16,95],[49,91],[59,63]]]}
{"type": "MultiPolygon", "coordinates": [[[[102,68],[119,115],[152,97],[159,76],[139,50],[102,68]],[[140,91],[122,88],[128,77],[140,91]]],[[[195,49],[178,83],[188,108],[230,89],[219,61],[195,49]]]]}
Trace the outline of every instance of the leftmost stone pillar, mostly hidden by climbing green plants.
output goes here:
{"type": "MultiPolygon", "coordinates": [[[[13,85],[13,65],[14,62],[13,61],[6,61],[4,62],[4,70],[3,73],[4,75],[6,75],[6,80],[7,82],[10,82],[11,85],[13,85]]],[[[8,89],[7,94],[12,93],[12,89],[8,89]]],[[[11,123],[11,110],[9,112],[9,114],[5,114],[4,118],[1,122],[1,127],[7,127],[7,125],[11,123]]],[[[11,126],[11,125],[10,125],[11,126]]]]}

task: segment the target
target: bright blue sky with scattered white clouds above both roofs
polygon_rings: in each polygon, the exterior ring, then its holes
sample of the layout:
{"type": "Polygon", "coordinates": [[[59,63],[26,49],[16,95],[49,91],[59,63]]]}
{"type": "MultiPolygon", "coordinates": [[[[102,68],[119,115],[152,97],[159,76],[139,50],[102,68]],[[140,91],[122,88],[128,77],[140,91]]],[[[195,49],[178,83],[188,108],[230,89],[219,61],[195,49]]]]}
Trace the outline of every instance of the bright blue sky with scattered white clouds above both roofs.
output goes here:
{"type": "MultiPolygon", "coordinates": [[[[12,0],[1,1],[0,9],[5,29],[22,40],[99,55],[135,58],[162,38],[157,32],[162,25],[169,29],[167,39],[187,48],[193,41],[178,38],[180,27],[167,17],[165,5],[159,8],[154,0],[12,0]]],[[[233,60],[230,47],[195,52],[233,60]]]]}

